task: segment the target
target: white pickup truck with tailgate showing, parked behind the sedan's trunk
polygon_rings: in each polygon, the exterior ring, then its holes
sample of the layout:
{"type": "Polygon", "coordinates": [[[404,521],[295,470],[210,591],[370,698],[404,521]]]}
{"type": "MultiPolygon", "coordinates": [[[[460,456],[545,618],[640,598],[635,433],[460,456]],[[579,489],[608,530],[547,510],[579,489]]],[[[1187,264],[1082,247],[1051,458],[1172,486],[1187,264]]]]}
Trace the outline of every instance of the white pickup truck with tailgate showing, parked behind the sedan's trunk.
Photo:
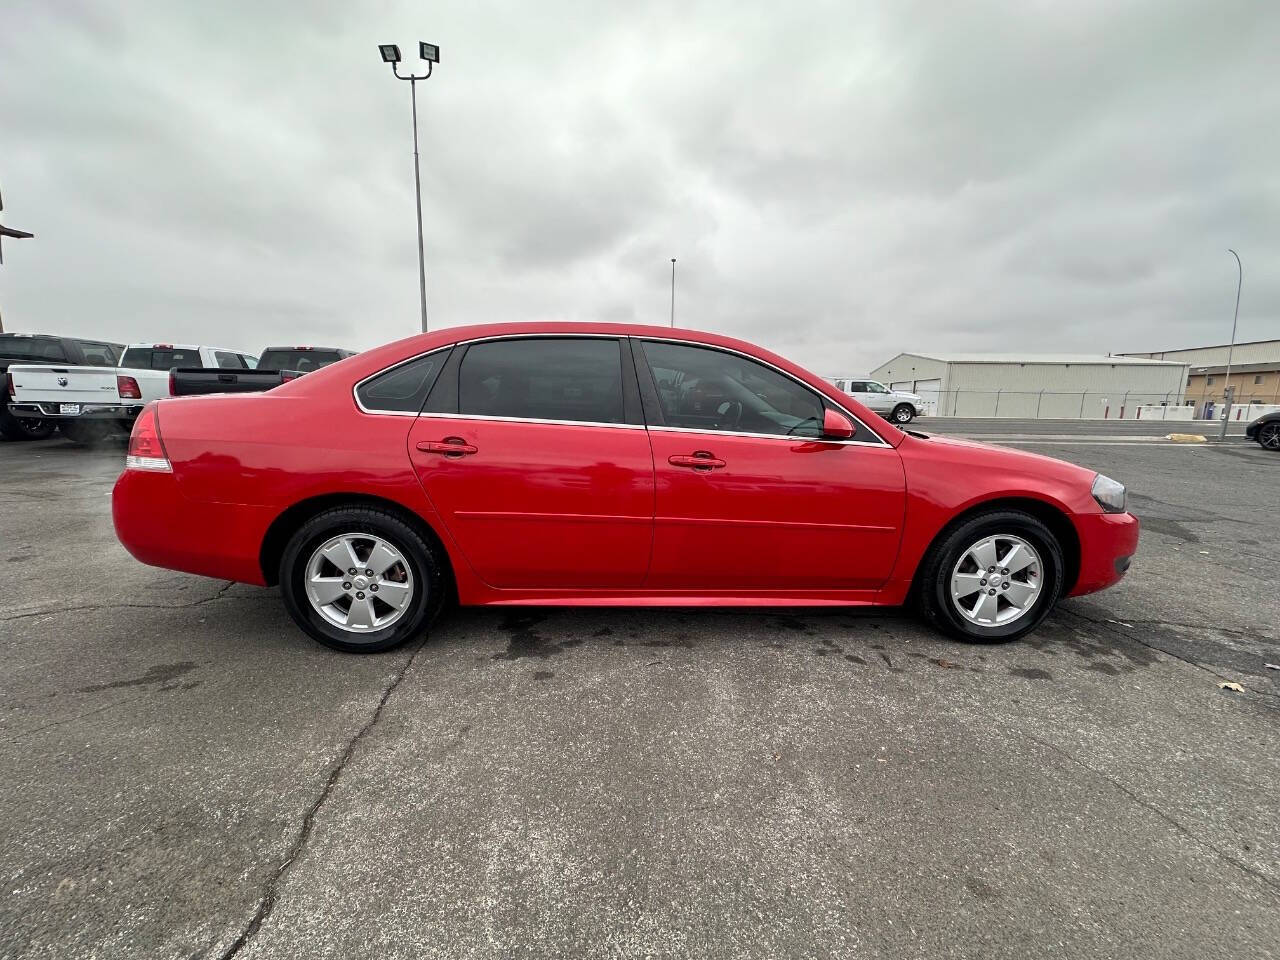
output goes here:
{"type": "Polygon", "coordinates": [[[252,370],[257,361],[224,347],[134,343],[118,367],[15,364],[9,410],[55,421],[68,439],[92,443],[128,433],[148,401],[169,396],[169,371],[179,366],[252,370]]]}

